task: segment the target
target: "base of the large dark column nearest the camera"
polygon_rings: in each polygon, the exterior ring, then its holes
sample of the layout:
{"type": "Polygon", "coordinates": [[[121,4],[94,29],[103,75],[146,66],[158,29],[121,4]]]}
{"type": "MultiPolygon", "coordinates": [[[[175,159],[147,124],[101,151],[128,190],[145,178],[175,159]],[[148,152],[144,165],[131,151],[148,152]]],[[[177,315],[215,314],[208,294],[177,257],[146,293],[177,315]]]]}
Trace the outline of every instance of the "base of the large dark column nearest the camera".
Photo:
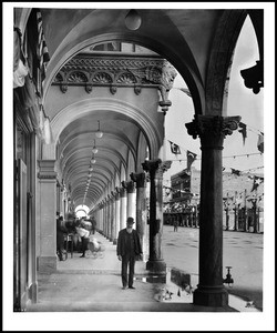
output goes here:
{"type": "Polygon", "coordinates": [[[203,306],[227,306],[228,292],[224,286],[198,286],[193,293],[193,304],[203,306]]]}

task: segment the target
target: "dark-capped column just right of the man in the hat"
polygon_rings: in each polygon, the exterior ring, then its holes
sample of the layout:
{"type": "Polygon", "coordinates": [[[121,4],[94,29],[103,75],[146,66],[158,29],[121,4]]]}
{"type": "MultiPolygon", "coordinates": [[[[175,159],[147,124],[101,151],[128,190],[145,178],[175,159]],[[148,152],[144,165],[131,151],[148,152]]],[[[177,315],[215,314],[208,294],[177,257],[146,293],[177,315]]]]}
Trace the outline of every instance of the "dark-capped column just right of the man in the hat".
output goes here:
{"type": "Polygon", "coordinates": [[[162,255],[163,233],[163,175],[160,159],[142,163],[150,173],[150,258],[146,270],[150,274],[166,274],[166,264],[162,255]]]}

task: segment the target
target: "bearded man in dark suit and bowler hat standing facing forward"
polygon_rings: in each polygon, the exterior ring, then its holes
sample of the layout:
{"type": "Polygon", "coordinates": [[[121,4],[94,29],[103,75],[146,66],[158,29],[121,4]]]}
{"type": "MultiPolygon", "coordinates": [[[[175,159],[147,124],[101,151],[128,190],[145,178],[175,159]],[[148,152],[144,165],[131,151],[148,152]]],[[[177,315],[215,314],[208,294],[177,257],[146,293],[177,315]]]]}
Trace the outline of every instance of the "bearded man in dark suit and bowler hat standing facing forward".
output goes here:
{"type": "Polygon", "coordinates": [[[134,219],[127,218],[126,228],[119,232],[116,253],[120,261],[122,261],[121,276],[123,290],[129,285],[129,289],[135,289],[133,286],[135,259],[140,256],[142,259],[142,245],[137,231],[133,229],[134,219]],[[129,266],[129,278],[127,278],[129,266]]]}

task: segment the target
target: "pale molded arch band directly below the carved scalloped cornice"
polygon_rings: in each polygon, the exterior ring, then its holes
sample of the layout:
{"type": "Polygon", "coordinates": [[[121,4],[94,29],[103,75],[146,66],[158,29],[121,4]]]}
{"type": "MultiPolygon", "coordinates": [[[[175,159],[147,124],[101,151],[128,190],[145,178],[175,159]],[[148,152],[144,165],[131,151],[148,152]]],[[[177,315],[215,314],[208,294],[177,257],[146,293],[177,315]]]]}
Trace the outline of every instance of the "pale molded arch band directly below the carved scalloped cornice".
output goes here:
{"type": "MultiPolygon", "coordinates": [[[[127,102],[111,98],[86,99],[73,103],[61,110],[51,120],[54,144],[57,144],[60,133],[69,123],[71,123],[75,119],[82,118],[88,113],[93,113],[102,110],[109,110],[111,112],[124,114],[125,117],[133,120],[133,122],[137,125],[137,128],[141,129],[147,140],[151,158],[154,159],[157,157],[160,147],[163,144],[163,138],[157,131],[156,125],[153,123],[151,118],[141,109],[127,102]],[[75,110],[79,110],[79,112],[76,113],[75,110]]],[[[47,144],[43,144],[43,151],[45,145],[47,144]]],[[[55,154],[54,149],[52,149],[52,153],[55,154]]],[[[55,155],[52,155],[52,159],[55,159],[55,155]]]]}

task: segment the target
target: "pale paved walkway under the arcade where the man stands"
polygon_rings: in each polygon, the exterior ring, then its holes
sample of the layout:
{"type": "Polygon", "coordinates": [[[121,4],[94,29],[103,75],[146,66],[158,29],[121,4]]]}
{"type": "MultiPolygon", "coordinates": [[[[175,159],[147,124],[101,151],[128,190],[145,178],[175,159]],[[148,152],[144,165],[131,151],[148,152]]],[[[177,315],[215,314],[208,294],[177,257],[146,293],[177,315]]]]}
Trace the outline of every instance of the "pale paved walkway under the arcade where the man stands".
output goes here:
{"type": "Polygon", "coordinates": [[[38,303],[28,304],[28,312],[257,312],[246,302],[229,295],[229,306],[207,307],[193,304],[193,294],[171,281],[158,282],[150,276],[144,261],[136,262],[135,290],[122,290],[121,262],[116,246],[100,233],[95,238],[105,251],[98,258],[80,258],[69,253],[66,261],[58,262],[53,274],[38,274],[38,303]],[[162,295],[167,293],[166,299],[162,295]]]}

